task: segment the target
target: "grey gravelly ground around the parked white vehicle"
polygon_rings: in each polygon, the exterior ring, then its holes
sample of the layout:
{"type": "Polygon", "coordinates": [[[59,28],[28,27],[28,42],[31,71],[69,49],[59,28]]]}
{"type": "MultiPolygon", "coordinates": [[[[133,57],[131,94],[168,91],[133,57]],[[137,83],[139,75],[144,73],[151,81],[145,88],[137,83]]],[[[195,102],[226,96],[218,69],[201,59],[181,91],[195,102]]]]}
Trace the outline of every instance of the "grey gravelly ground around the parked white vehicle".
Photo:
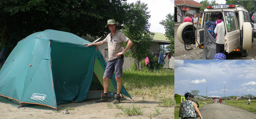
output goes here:
{"type": "MultiPolygon", "coordinates": [[[[184,44],[181,44],[180,41],[177,39],[177,29],[179,25],[180,24],[178,23],[175,24],[175,60],[202,59],[203,49],[199,49],[199,48],[196,48],[195,45],[191,45],[193,49],[187,51],[184,49],[184,44]]],[[[236,59],[236,60],[256,59],[256,37],[254,37],[254,42],[252,43],[252,49],[248,51],[247,57],[241,57],[238,53],[230,53],[227,55],[227,59],[236,59]]]]}

